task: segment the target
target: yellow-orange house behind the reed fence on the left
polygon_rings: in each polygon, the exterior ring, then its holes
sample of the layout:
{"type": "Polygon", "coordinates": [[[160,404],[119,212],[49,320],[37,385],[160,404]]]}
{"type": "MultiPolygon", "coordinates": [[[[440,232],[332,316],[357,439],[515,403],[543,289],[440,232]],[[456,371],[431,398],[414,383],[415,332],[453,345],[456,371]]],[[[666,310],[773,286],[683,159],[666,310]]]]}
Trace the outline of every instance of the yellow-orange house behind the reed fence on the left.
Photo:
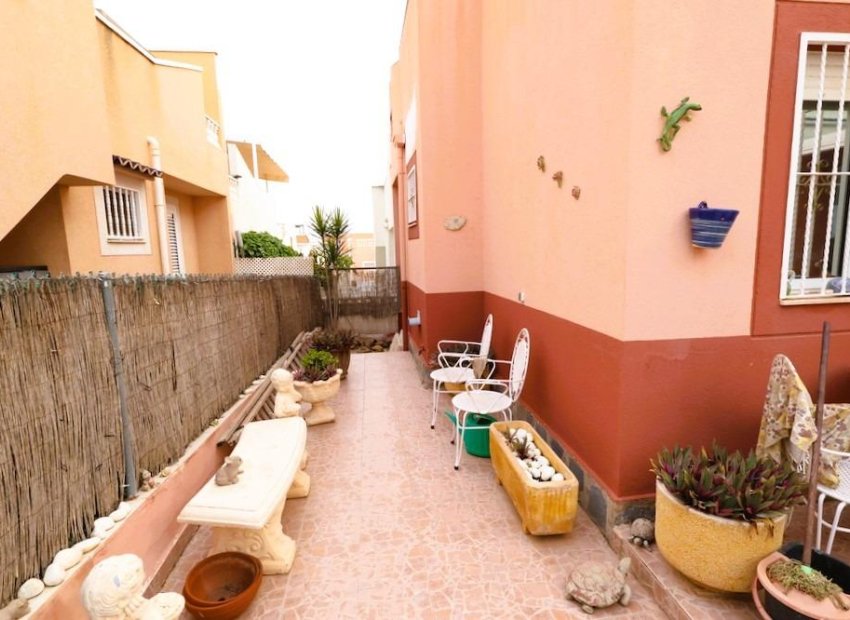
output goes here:
{"type": "Polygon", "coordinates": [[[146,50],[91,0],[0,21],[0,269],[232,272],[215,54],[146,50]]]}

